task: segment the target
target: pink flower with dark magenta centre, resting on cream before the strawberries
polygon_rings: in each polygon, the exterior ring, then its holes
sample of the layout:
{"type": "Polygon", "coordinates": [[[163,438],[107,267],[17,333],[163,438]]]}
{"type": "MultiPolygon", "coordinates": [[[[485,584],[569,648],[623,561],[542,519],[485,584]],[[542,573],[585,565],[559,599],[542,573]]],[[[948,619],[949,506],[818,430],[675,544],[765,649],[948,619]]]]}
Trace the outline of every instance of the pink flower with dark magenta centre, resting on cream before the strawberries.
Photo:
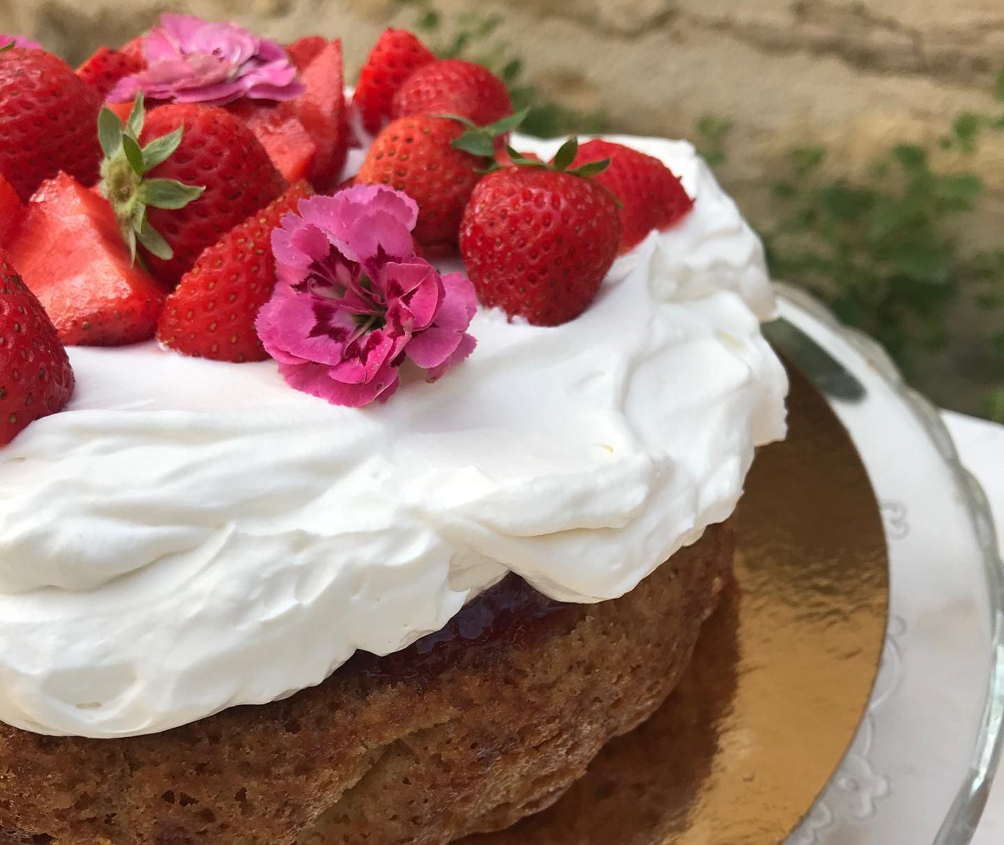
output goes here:
{"type": "Polygon", "coordinates": [[[393,395],[405,358],[438,378],[471,354],[474,288],[415,255],[411,198],[359,186],[298,211],[272,233],[279,284],[256,324],[292,386],[359,406],[393,395]]]}

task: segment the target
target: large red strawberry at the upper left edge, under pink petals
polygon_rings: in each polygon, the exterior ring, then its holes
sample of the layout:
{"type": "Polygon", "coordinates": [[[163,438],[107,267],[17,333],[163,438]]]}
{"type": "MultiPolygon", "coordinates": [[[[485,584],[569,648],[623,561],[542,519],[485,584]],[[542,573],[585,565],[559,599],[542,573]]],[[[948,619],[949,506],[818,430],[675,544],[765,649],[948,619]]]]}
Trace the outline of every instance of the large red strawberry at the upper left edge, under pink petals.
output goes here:
{"type": "Polygon", "coordinates": [[[59,171],[94,183],[100,104],[62,59],[19,47],[0,52],[0,174],[21,200],[59,171]]]}

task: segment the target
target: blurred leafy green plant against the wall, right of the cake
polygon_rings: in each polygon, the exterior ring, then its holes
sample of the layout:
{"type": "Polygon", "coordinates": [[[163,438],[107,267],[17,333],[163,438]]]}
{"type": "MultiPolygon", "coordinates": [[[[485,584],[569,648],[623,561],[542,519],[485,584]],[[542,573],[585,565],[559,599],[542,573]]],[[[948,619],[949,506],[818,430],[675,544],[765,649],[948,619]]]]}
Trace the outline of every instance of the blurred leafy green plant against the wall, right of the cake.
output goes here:
{"type": "MultiPolygon", "coordinates": [[[[996,95],[1004,101],[1004,73],[996,95]]],[[[709,160],[723,162],[728,121],[705,116],[696,128],[709,160]]],[[[1004,115],[965,111],[940,147],[971,155],[985,132],[1001,129],[1004,115]]],[[[877,151],[866,178],[856,181],[826,176],[826,156],[821,145],[789,151],[787,175],[771,186],[778,222],[761,232],[771,273],[808,288],[845,323],[877,338],[915,380],[924,380],[925,352],[950,341],[965,347],[966,365],[998,382],[983,411],[1004,421],[1004,330],[975,349],[970,337],[950,336],[959,314],[976,310],[1000,320],[1004,304],[1004,250],[971,254],[956,237],[984,193],[983,180],[934,168],[930,151],[912,144],[877,151]]]]}

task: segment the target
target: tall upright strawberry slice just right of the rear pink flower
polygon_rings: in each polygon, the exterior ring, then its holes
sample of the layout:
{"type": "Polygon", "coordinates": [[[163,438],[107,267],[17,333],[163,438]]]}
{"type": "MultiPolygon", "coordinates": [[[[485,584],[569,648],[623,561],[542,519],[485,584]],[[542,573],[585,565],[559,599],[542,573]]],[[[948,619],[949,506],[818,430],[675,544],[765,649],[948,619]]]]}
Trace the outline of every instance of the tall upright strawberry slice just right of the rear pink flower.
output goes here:
{"type": "Polygon", "coordinates": [[[310,183],[318,191],[337,183],[348,154],[343,79],[341,41],[335,39],[303,71],[306,90],[294,100],[300,122],[317,145],[310,183]]]}

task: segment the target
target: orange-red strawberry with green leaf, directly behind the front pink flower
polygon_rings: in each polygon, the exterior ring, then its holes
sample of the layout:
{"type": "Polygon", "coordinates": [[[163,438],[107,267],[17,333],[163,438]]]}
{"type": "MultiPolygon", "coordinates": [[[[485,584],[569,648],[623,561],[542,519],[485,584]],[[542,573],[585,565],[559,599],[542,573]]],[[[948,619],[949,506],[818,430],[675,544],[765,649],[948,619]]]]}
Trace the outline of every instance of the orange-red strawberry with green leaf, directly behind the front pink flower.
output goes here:
{"type": "Polygon", "coordinates": [[[416,240],[424,246],[455,244],[464,206],[495,154],[492,138],[522,116],[481,128],[430,115],[394,120],[366,151],[356,184],[404,191],[419,204],[416,240]]]}

